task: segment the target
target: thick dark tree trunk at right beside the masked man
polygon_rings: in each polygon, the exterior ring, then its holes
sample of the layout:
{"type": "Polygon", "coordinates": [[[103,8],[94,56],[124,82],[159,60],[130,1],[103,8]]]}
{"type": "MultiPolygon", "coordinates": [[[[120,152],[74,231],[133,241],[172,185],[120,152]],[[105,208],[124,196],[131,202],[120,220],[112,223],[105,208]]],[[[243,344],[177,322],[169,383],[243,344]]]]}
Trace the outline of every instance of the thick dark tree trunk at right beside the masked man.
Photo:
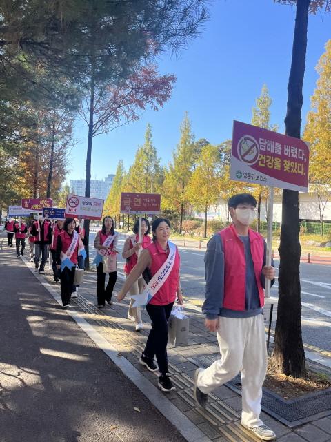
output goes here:
{"type": "MultiPolygon", "coordinates": [[[[307,48],[310,0],[297,0],[292,64],[288,82],[286,135],[300,137],[302,86],[307,48]]],[[[272,366],[278,373],[296,378],[305,375],[305,352],[301,334],[299,193],[283,190],[281,243],[279,246],[279,305],[272,366]]]]}

